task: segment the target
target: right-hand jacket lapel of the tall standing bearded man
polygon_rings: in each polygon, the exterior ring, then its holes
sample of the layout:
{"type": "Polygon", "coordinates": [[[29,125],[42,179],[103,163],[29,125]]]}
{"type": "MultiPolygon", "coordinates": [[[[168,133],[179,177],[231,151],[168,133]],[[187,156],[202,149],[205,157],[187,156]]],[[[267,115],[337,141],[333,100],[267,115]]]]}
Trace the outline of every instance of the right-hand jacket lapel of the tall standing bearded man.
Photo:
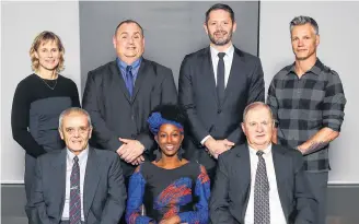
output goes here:
{"type": "Polygon", "coordinates": [[[241,51],[234,47],[231,72],[224,90],[224,99],[222,104],[224,104],[225,99],[229,97],[229,94],[241,85],[241,80],[246,79],[244,68],[245,64],[241,58],[241,51]]]}

